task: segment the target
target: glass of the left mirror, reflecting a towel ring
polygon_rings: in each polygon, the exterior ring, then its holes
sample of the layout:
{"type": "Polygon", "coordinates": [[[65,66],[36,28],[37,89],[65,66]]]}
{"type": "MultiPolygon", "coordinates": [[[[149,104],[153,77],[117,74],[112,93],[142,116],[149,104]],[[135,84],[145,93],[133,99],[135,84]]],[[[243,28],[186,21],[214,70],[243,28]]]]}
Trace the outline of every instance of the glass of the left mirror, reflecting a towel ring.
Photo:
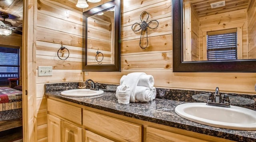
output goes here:
{"type": "Polygon", "coordinates": [[[114,64],[114,8],[87,18],[87,64],[114,64]]]}

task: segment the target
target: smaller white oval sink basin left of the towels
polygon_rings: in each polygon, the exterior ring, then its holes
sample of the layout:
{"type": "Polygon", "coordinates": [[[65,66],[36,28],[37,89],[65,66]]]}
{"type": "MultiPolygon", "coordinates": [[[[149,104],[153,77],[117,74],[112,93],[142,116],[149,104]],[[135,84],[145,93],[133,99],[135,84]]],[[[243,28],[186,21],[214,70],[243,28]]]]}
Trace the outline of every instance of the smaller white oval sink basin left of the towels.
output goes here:
{"type": "Polygon", "coordinates": [[[66,90],[62,91],[60,94],[63,96],[70,96],[70,97],[84,97],[84,96],[96,96],[103,94],[103,90],[90,90],[90,89],[72,89],[72,90],[66,90]]]}

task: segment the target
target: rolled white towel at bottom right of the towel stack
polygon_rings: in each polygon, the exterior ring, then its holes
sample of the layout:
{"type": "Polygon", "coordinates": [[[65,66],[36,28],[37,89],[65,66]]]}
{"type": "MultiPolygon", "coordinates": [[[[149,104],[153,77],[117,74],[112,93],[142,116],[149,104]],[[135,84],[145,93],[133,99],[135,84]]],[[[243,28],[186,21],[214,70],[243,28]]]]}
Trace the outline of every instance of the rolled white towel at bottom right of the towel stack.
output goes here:
{"type": "Polygon", "coordinates": [[[148,87],[136,86],[135,87],[135,102],[149,102],[151,98],[151,92],[148,87]]]}

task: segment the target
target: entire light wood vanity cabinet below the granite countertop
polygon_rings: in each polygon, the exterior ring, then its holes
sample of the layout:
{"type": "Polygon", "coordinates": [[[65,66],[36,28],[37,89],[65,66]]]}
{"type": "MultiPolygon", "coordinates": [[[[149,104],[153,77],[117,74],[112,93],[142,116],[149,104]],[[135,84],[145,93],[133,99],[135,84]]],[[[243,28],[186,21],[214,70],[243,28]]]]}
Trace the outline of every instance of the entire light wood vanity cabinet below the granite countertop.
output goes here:
{"type": "Polygon", "coordinates": [[[48,142],[231,142],[48,98],[48,142]]]}

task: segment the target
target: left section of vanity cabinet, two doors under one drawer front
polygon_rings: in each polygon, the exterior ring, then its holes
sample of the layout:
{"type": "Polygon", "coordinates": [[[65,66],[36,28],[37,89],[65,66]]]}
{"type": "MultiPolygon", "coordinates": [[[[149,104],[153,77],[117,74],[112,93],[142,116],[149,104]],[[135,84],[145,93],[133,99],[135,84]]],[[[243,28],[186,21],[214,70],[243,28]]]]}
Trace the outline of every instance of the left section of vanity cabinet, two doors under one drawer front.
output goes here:
{"type": "Polygon", "coordinates": [[[48,99],[48,142],[82,142],[82,108],[48,99]]]}

